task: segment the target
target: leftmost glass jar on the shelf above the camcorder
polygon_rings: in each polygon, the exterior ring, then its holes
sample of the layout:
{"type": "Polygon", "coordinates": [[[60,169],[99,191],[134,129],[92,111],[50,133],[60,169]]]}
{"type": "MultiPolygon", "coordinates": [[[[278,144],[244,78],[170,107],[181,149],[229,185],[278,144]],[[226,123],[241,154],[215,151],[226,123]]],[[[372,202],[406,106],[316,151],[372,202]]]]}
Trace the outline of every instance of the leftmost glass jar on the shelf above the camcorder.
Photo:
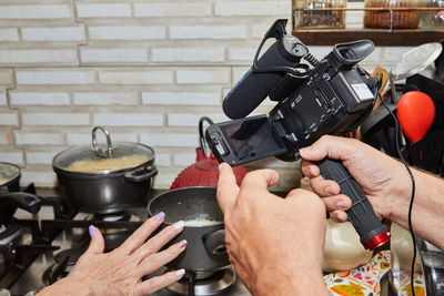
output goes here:
{"type": "Polygon", "coordinates": [[[344,29],[345,13],[334,8],[345,8],[346,0],[293,0],[294,27],[302,29],[344,29]],[[310,10],[329,8],[332,10],[310,10]],[[309,10],[297,10],[309,9],[309,10]]]}

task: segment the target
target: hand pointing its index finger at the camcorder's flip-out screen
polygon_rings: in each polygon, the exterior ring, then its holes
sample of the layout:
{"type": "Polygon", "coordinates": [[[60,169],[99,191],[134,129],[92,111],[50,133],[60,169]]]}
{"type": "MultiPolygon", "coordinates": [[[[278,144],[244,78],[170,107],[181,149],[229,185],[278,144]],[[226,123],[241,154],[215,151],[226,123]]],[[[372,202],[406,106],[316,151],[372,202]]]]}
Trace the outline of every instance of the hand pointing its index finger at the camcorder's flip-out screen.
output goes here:
{"type": "Polygon", "coordinates": [[[231,166],[220,165],[218,201],[231,264],[255,296],[329,295],[321,267],[325,207],[312,192],[270,193],[278,182],[275,171],[258,170],[239,187],[231,166]]]}

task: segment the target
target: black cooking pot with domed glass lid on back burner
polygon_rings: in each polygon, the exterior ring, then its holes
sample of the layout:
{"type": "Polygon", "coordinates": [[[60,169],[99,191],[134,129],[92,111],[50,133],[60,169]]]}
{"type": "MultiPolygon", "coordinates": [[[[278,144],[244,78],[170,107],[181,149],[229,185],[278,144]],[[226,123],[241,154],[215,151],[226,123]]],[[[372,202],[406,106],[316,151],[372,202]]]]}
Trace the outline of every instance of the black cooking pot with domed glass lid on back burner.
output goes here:
{"type": "Polygon", "coordinates": [[[52,160],[62,197],[74,210],[109,214],[147,204],[153,177],[154,151],[140,143],[112,145],[102,126],[92,130],[92,147],[68,149],[52,160]],[[105,149],[97,142],[97,132],[107,139],[105,149]]]}

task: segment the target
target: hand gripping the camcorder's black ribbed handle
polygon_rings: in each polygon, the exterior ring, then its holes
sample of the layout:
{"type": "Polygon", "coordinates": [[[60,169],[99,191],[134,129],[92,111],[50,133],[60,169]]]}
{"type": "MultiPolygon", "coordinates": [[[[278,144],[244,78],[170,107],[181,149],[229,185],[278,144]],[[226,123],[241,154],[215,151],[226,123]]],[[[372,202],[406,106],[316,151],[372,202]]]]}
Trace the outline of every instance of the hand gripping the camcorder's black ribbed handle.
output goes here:
{"type": "Polygon", "coordinates": [[[325,157],[341,160],[379,216],[389,218],[396,196],[408,196],[410,177],[404,165],[359,140],[324,135],[310,147],[301,149],[300,153],[303,174],[310,178],[313,191],[323,197],[335,222],[347,220],[345,211],[352,206],[352,202],[349,196],[340,194],[336,182],[324,180],[319,166],[311,161],[325,157]]]}

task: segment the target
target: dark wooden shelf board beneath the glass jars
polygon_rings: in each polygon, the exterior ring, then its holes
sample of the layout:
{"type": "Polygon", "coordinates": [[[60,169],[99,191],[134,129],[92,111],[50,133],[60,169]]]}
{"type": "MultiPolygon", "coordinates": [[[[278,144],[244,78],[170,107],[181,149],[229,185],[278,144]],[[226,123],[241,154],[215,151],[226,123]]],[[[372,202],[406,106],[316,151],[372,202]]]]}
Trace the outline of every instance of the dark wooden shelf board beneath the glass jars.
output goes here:
{"type": "Polygon", "coordinates": [[[334,45],[370,39],[377,47],[415,47],[444,40],[443,30],[424,29],[293,29],[293,34],[307,45],[334,45]]]}

